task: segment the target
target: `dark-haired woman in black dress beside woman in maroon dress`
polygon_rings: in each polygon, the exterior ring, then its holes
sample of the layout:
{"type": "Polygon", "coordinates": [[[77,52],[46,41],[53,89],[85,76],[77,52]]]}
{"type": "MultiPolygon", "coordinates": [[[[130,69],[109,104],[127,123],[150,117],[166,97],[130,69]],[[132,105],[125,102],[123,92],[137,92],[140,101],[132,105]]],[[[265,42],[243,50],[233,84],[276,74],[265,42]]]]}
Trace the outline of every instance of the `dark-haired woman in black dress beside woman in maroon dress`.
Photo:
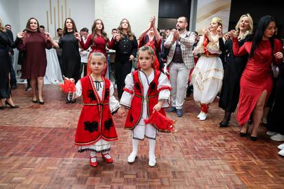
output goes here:
{"type": "MultiPolygon", "coordinates": [[[[62,49],[62,75],[64,75],[64,77],[73,78],[75,83],[77,83],[80,79],[81,56],[79,53],[79,42],[74,36],[75,32],[78,32],[75,22],[72,18],[66,18],[62,38],[60,38],[58,42],[55,42],[54,39],[49,36],[48,40],[50,40],[56,49],[62,49]]],[[[70,96],[71,94],[67,95],[66,103],[75,102],[75,98],[70,96]],[[74,100],[71,101],[71,99],[74,100]]],[[[75,93],[72,94],[72,96],[75,96],[75,93]]]]}

